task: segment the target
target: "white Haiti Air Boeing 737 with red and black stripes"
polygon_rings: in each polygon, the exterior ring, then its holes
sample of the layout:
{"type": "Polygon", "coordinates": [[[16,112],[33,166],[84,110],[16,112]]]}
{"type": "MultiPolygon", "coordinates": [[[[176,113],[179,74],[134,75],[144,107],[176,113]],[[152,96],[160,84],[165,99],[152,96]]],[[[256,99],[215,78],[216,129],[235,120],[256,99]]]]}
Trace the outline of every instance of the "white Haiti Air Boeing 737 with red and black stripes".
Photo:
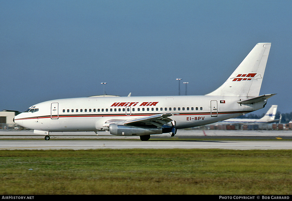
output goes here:
{"type": "Polygon", "coordinates": [[[117,136],[170,133],[264,108],[275,94],[259,96],[271,43],[258,43],[215,91],[204,96],[96,97],[50,100],[31,106],[14,122],[34,133],[109,131],[117,136]]]}

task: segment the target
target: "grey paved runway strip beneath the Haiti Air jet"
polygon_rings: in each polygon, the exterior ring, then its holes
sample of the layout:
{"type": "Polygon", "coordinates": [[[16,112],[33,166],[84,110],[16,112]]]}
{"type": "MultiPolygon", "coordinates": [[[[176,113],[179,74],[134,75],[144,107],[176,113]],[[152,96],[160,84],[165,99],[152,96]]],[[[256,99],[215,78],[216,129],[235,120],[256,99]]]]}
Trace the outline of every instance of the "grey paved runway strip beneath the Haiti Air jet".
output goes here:
{"type": "Polygon", "coordinates": [[[33,131],[0,131],[0,150],[132,148],[270,150],[292,149],[291,139],[292,131],[179,130],[173,138],[169,134],[161,134],[151,136],[149,141],[140,141],[138,136],[112,136],[107,132],[101,132],[98,136],[94,132],[51,133],[51,139],[46,141],[44,136],[34,134],[33,131]],[[227,138],[234,140],[224,140],[227,138]]]}

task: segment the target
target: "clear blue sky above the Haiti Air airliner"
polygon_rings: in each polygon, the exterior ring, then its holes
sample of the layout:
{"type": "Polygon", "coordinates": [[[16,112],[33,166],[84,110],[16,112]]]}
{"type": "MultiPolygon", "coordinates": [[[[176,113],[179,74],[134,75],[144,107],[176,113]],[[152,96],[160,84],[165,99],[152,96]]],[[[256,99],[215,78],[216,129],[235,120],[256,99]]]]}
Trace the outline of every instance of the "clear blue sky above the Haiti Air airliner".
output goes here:
{"type": "Polygon", "coordinates": [[[101,82],[111,95],[178,95],[181,78],[204,95],[271,42],[260,95],[291,112],[291,11],[288,0],[1,0],[0,110],[100,95],[101,82]]]}

